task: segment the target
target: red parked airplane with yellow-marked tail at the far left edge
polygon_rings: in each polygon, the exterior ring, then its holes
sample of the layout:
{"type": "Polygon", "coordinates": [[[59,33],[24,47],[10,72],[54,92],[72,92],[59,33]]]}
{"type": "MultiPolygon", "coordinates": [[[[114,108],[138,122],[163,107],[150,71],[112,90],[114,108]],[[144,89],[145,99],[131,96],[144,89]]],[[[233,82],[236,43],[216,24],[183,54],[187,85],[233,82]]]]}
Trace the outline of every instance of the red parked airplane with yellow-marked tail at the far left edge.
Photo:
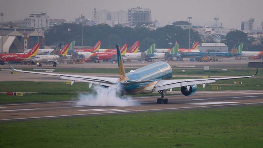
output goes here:
{"type": "Polygon", "coordinates": [[[0,54],[0,63],[3,65],[4,62],[26,62],[27,58],[35,57],[38,53],[39,43],[27,53],[27,54],[0,54]]]}

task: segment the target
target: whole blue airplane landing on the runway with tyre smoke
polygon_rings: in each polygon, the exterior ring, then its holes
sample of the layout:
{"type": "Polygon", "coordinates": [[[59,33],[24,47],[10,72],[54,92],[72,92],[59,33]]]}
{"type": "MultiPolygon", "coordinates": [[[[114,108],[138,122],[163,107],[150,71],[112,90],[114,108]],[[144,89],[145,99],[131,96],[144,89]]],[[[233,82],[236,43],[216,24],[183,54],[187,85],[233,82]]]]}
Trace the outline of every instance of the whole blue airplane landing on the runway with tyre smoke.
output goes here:
{"type": "Polygon", "coordinates": [[[119,71],[118,78],[23,71],[13,68],[9,62],[8,64],[14,71],[58,76],[60,79],[71,80],[71,84],[73,84],[75,81],[87,82],[90,83],[89,87],[91,87],[92,84],[98,84],[106,87],[114,87],[117,88],[123,94],[128,95],[152,93],[154,91],[158,91],[161,94],[161,98],[157,99],[158,104],[161,104],[162,102],[164,104],[168,103],[168,99],[164,98],[164,95],[166,94],[166,89],[171,90],[175,87],[181,87],[181,93],[183,95],[192,96],[197,91],[197,84],[203,84],[203,87],[205,87],[205,84],[213,83],[217,80],[249,78],[255,76],[258,73],[257,68],[256,73],[251,76],[171,80],[172,68],[168,63],[162,61],[149,64],[147,66],[125,73],[119,44],[116,45],[116,48],[119,71]]]}

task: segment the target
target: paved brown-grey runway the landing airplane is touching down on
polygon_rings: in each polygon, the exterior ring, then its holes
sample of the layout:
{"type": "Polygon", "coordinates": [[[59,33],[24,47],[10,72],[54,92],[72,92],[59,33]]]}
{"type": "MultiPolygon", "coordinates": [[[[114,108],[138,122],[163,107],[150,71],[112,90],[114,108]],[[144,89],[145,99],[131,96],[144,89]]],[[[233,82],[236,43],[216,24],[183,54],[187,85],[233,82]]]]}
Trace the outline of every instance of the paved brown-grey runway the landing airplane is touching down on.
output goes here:
{"type": "Polygon", "coordinates": [[[199,91],[192,97],[178,92],[165,97],[169,99],[168,104],[157,104],[157,97],[134,97],[129,101],[138,101],[139,105],[127,107],[76,105],[77,101],[2,104],[0,122],[263,104],[263,90],[199,91]]]}

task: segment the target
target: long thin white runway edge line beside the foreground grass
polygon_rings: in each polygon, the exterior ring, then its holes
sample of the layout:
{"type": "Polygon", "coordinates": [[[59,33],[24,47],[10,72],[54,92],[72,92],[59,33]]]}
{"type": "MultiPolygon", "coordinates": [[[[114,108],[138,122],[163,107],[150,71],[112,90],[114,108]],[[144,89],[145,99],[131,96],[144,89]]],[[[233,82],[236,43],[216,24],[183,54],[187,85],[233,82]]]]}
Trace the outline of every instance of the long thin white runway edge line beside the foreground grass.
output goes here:
{"type": "MultiPolygon", "coordinates": [[[[205,107],[220,107],[220,106],[234,106],[234,105],[249,105],[249,104],[263,104],[263,102],[258,103],[242,103],[242,104],[224,104],[224,105],[211,105],[211,106],[198,106],[198,107],[178,107],[178,108],[165,108],[165,109],[152,109],[152,110],[130,110],[123,112],[144,112],[144,111],[157,111],[157,110],[180,110],[180,109],[196,109],[196,108],[205,108],[205,107]]],[[[74,116],[87,116],[87,115],[96,115],[96,114],[108,114],[111,112],[104,113],[85,113],[85,114],[72,114],[72,115],[58,115],[58,116],[43,116],[43,117],[28,117],[28,118],[13,118],[13,119],[0,119],[0,121],[8,120],[27,120],[27,119],[41,119],[41,118],[55,118],[55,117],[74,117],[74,116]]]]}

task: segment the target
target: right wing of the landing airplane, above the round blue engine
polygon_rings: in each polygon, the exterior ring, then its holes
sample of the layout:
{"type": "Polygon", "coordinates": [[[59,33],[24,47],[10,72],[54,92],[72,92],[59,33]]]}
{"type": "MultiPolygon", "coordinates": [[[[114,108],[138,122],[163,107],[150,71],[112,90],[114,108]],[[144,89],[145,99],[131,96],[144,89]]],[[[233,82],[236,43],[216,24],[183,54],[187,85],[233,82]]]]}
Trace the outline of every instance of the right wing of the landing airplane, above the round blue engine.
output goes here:
{"type": "Polygon", "coordinates": [[[175,87],[183,87],[183,86],[189,86],[193,84],[203,84],[203,87],[205,87],[206,83],[213,83],[217,80],[230,80],[230,79],[242,79],[242,78],[248,78],[253,77],[258,73],[258,67],[257,71],[252,76],[241,76],[241,77],[221,77],[221,78],[207,78],[207,79],[178,79],[178,80],[160,80],[154,87],[154,91],[159,90],[165,90],[165,89],[171,89],[175,87]]]}

